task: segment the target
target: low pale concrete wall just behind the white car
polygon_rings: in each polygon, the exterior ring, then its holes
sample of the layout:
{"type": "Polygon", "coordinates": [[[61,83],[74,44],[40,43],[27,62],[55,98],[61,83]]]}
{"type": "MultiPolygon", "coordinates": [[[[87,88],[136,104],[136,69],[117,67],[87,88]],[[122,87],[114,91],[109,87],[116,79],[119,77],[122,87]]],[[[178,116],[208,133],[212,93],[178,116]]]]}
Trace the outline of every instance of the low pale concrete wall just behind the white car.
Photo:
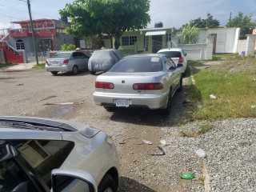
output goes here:
{"type": "Polygon", "coordinates": [[[213,55],[213,37],[207,37],[206,43],[198,44],[178,44],[178,38],[172,39],[173,48],[182,48],[189,60],[209,60],[213,55]]]}

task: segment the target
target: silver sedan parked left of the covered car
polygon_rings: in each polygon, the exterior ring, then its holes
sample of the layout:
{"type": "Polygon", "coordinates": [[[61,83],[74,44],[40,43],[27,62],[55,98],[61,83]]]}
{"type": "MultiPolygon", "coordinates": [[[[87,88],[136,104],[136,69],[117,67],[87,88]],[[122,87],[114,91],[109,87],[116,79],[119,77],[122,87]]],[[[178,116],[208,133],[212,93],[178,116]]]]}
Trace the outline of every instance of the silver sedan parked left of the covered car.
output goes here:
{"type": "Polygon", "coordinates": [[[80,70],[88,70],[89,57],[79,51],[57,52],[46,59],[46,70],[56,75],[58,72],[78,74],[80,70]]]}

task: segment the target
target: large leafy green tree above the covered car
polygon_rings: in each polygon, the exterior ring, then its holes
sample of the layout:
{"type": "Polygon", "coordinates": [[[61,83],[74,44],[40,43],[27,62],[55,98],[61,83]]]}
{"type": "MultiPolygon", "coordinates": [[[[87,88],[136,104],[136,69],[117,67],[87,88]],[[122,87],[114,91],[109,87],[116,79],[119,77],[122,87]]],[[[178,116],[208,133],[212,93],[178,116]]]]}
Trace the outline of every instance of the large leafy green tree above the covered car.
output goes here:
{"type": "Polygon", "coordinates": [[[118,49],[123,32],[147,26],[149,10],[150,0],[74,0],[60,14],[70,18],[68,34],[74,37],[108,34],[118,49]]]}

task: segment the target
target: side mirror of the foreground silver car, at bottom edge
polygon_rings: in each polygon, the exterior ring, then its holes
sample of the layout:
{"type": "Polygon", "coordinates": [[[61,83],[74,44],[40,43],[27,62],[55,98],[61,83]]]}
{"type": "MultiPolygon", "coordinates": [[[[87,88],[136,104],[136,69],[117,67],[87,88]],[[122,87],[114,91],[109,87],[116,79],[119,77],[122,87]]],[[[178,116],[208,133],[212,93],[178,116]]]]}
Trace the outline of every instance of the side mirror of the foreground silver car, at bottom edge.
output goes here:
{"type": "Polygon", "coordinates": [[[51,182],[53,192],[60,191],[84,191],[97,192],[94,177],[86,171],[61,170],[51,171],[51,182]]]}

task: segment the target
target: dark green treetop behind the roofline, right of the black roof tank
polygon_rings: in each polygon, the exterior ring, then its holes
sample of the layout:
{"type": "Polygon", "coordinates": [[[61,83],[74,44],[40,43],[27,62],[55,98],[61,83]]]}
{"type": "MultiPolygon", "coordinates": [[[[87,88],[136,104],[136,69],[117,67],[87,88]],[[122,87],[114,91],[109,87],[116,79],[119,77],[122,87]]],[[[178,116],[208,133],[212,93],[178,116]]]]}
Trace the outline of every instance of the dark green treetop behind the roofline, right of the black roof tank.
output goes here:
{"type": "MultiPolygon", "coordinates": [[[[213,17],[211,14],[207,14],[206,19],[196,18],[194,20],[190,20],[191,26],[197,26],[198,28],[218,28],[219,21],[213,17]]],[[[188,25],[188,24],[186,24],[188,25]]],[[[183,25],[182,27],[186,26],[183,25]]]]}

